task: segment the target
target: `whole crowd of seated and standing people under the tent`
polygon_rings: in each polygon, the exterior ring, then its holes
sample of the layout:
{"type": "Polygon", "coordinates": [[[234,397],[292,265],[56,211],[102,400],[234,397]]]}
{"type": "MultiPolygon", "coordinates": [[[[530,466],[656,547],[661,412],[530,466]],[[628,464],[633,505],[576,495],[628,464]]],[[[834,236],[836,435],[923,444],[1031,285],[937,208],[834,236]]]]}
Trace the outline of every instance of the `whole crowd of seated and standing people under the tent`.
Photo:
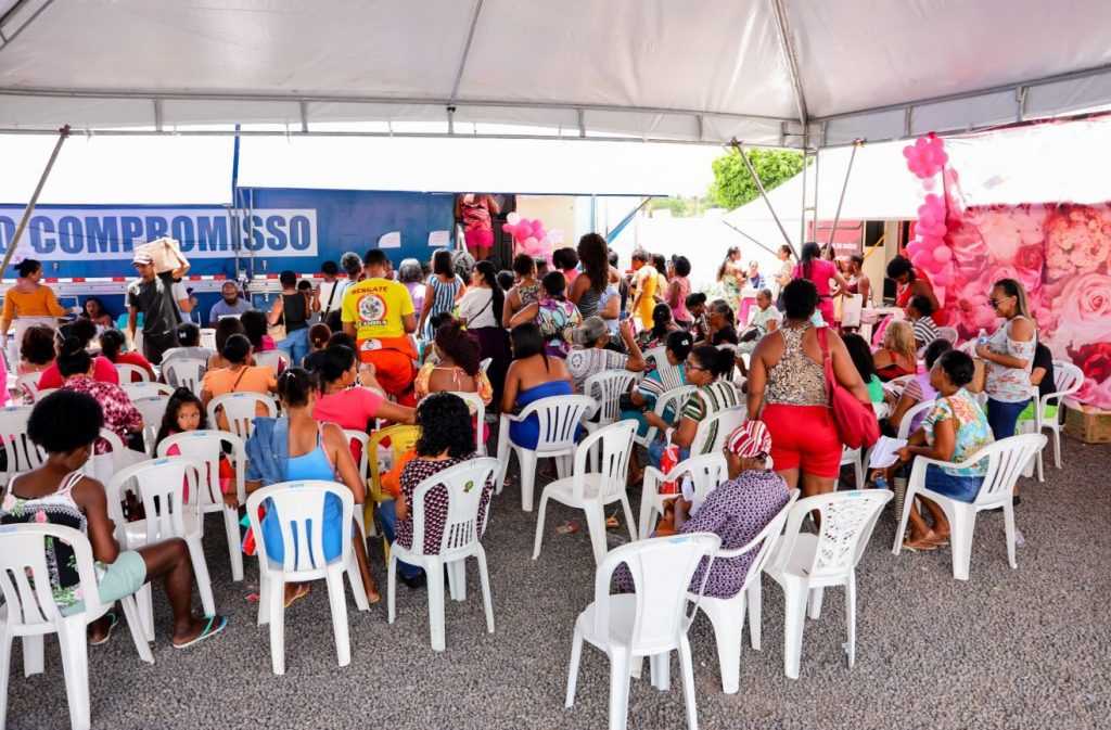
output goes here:
{"type": "MultiPolygon", "coordinates": [[[[802,247],[797,263],[791,258],[790,250],[781,251],[782,268],[764,277],[731,250],[719,271],[727,297],[708,301],[691,290],[684,257],[667,260],[637,250],[630,270],[622,271],[595,233],[583,236],[574,249],[556,251],[552,261],[519,254],[509,271],[497,270],[489,259],[460,266],[448,251],[438,251],[427,269],[410,259],[394,270],[386,251],[372,249],[361,261],[346,256],[339,266],[326,263],[324,282],[316,289],[302,288],[296,276],[283,272],[282,293],[269,312],[250,309],[229,282],[211,312],[216,351],[200,347],[196,324],[173,316],[171,289],[149,261],[137,258],[140,279],[128,297],[132,327],[138,311],[146,316],[143,353],[129,351],[126,338],[101,321],[102,310],[96,307],[87,308],[63,336],[54,332],[53,321],[36,321],[61,311],[49,289],[43,292],[37,283],[41,267],[24,262],[21,283],[6,299],[0,329],[28,320],[17,327],[20,371],[41,373],[40,390],[59,390],[41,398],[30,417],[28,434],[47,452],[46,462],[8,484],[0,522],[26,522],[42,513],[79,526],[108,569],[110,580],[101,586],[106,601],[133,592],[151,577],[167,576],[174,643],[188,646],[218,633],[226,621],[190,612],[191,568],[180,541],[121,552],[107,518],[103,487],[81,471],[87,459],[106,448],[98,441],[101,428],[117,433],[133,460],[143,458],[147,424],[119,382],[118,364],[136,366],[153,378],[160,364],[178,358],[206,361],[197,392],[178,388],[170,398],[158,440],[206,427],[227,429],[222,413],[208,423],[208,407],[221,394],[276,396],[280,417],[260,410],[247,443],[248,491],[323,479],[346,486],[361,510],[369,499],[356,467],[361,447],[349,443],[343,429],[370,433],[393,423],[418,426],[414,449],[383,479],[392,486],[387,488],[392,500],[383,501],[377,513],[387,534],[402,544],[412,540],[417,486],[472,457],[477,432],[480,440],[490,438],[488,424],[460,393],[472,393],[490,411],[520,412],[541,398],[582,393],[591,376],[634,373],[634,386],[621,399],[621,417],[637,420],[641,436],[654,429],[644,458],[657,467],[669,450],[679,460],[697,456],[700,426],[727,409],[743,409],[744,423],[723,434],[730,480],[700,506],[674,500],[655,530],[710,530],[730,548],[758,533],[787,502],[789,489],[798,487],[804,496],[834,489],[843,451],[830,410],[834,384],[869,409],[887,401],[887,430],[898,430],[915,404],[933,403],[911,424],[899,463],[875,474],[880,483],[897,478],[918,456],[957,462],[993,439],[1012,436],[1030,408],[1031,386],[1052,386],[1052,361],[1042,352],[1022,286],[1014,280],[992,288],[991,304],[1003,324],[975,344],[974,360],[938,339],[940,310],[928,280],[902,257],[894,259],[888,274],[898,283],[907,318],[891,322],[873,351],[855,332],[832,327],[832,296],[868,296],[870,283],[860,262],[850,263],[845,278],[814,243],[802,247]],[[747,289],[758,292],[755,304],[739,321],[738,298],[747,289]],[[258,358],[276,348],[289,357],[280,372],[258,358]],[[885,390],[891,381],[904,387],[885,390]],[[689,392],[658,410],[675,384],[689,392]],[[973,394],[981,390],[985,407],[973,394]]],[[[512,422],[503,438],[534,448],[539,429],[533,416],[512,422]]],[[[713,441],[711,433],[703,443],[713,441]]],[[[634,460],[630,473],[633,483],[639,463],[634,460]]],[[[221,466],[224,501],[242,507],[230,468],[221,466]]],[[[927,487],[971,500],[982,477],[980,469],[930,467],[927,487]]],[[[492,484],[483,489],[486,510],[492,484]]],[[[929,550],[944,543],[949,528],[940,509],[923,502],[921,514],[913,511],[907,544],[929,550]]],[[[446,510],[443,494],[430,493],[426,519],[442,529],[446,510]]],[[[326,557],[353,539],[367,598],[374,602],[379,592],[366,543],[340,517],[339,500],[329,499],[326,557]]],[[[270,514],[258,539],[271,558],[282,554],[281,533],[270,514]]],[[[426,547],[437,549],[430,539],[426,532],[426,547]]],[[[718,574],[711,577],[710,593],[735,592],[745,568],[743,559],[714,563],[718,574]]],[[[71,588],[72,579],[60,576],[56,596],[71,588]]],[[[412,588],[424,580],[413,566],[402,566],[400,579],[412,588]]],[[[307,586],[288,586],[287,603],[307,591],[307,586]]],[[[77,610],[78,603],[70,600],[64,610],[77,610]]],[[[92,630],[103,637],[108,627],[92,630]]]]}

